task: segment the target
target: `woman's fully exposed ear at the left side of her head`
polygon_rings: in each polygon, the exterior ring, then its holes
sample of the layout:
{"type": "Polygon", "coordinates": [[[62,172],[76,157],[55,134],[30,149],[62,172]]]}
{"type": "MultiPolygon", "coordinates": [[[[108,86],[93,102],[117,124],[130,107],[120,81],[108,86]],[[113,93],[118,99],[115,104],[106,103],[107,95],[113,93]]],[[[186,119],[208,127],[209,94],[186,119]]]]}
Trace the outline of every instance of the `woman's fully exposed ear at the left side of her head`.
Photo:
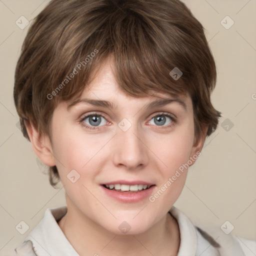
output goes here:
{"type": "Polygon", "coordinates": [[[25,121],[25,126],[32,148],[38,158],[48,166],[56,165],[49,136],[40,133],[31,122],[25,121]]]}

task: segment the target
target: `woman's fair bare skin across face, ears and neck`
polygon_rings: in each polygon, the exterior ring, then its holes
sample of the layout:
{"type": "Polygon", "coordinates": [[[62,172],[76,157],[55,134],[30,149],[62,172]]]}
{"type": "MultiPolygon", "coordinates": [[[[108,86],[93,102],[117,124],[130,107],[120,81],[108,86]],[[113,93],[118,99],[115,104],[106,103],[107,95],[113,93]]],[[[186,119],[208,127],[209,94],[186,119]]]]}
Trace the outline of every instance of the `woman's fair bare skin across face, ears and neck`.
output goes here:
{"type": "Polygon", "coordinates": [[[153,202],[149,196],[135,202],[117,200],[105,193],[102,184],[141,180],[153,184],[149,194],[153,195],[201,150],[205,135],[195,141],[189,96],[146,107],[172,97],[156,93],[136,98],[124,93],[111,66],[110,61],[102,64],[81,98],[108,100],[116,107],[79,102],[67,108],[69,102],[61,102],[53,111],[51,138],[26,125],[35,153],[45,164],[57,166],[65,189],[67,213],[58,224],[81,256],[177,255],[179,228],[167,212],[181,193],[187,169],[153,202]],[[100,116],[96,126],[86,117],[94,112],[100,116]],[[126,131],[118,126],[123,118],[131,124],[126,131]],[[72,169],[80,175],[74,183],[67,178],[72,169]],[[127,233],[118,228],[123,221],[130,226],[127,233]]]}

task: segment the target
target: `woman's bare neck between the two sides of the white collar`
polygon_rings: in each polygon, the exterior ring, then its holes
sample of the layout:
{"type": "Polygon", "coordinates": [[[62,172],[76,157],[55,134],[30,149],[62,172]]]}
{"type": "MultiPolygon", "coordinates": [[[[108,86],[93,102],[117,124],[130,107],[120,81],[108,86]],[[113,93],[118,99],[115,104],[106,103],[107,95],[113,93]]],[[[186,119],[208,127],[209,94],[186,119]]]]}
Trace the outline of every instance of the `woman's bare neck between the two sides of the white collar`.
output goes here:
{"type": "Polygon", "coordinates": [[[58,224],[80,256],[177,255],[179,228],[169,213],[143,233],[119,235],[99,226],[81,212],[70,211],[68,205],[67,208],[58,224]]]}

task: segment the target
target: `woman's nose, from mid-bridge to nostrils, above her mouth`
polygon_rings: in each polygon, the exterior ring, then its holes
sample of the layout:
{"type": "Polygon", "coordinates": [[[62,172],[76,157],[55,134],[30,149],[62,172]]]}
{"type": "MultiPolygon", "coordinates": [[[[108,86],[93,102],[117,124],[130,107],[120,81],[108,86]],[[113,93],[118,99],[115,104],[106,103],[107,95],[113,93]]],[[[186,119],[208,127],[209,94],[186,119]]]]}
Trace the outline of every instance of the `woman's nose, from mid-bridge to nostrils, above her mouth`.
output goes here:
{"type": "Polygon", "coordinates": [[[147,165],[149,150],[143,131],[138,130],[137,125],[132,125],[126,131],[118,128],[112,146],[115,166],[135,170],[147,165]]]}

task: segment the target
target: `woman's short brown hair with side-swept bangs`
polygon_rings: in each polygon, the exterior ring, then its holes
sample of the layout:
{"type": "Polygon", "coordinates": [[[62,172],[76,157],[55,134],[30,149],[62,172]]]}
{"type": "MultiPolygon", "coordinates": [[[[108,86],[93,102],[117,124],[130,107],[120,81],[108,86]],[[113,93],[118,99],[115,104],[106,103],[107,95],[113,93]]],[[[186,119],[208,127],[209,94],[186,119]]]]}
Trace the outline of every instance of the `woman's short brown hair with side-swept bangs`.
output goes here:
{"type": "MultiPolygon", "coordinates": [[[[129,95],[188,93],[195,138],[205,125],[210,135],[221,115],[210,101],[216,67],[203,29],[179,0],[51,0],[28,29],[15,70],[23,135],[29,139],[24,120],[50,135],[57,103],[80,97],[110,56],[129,95]],[[169,74],[175,67],[179,79],[169,74]]],[[[56,166],[49,167],[49,181],[53,187],[59,181],[56,166]]]]}

